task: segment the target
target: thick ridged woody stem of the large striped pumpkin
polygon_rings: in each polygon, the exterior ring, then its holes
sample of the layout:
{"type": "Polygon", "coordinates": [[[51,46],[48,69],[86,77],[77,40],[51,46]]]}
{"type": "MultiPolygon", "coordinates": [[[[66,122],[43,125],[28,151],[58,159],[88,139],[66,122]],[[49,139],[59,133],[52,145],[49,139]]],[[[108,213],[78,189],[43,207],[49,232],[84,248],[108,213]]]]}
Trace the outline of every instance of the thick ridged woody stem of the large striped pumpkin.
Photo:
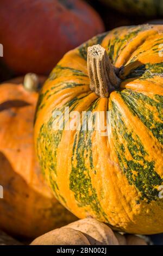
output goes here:
{"type": "Polygon", "coordinates": [[[118,77],[123,70],[111,64],[105,48],[93,45],[87,48],[87,69],[90,78],[90,89],[100,97],[109,97],[109,94],[120,87],[118,77]]]}

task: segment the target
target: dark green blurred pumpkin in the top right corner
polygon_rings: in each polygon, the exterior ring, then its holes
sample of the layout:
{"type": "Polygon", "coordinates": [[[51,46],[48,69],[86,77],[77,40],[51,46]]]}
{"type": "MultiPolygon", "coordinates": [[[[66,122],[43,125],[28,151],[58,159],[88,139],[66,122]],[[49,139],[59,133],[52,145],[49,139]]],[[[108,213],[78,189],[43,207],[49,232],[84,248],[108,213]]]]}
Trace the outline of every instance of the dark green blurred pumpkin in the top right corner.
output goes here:
{"type": "Polygon", "coordinates": [[[102,0],[105,4],[115,8],[121,13],[135,16],[163,15],[163,3],[156,0],[102,0]]]}

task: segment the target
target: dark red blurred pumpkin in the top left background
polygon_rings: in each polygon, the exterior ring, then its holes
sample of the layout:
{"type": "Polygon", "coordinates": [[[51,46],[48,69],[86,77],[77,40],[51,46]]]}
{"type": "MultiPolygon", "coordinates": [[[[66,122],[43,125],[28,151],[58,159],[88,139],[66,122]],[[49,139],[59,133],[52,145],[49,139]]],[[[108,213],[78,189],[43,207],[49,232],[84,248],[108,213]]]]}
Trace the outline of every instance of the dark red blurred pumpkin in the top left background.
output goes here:
{"type": "Polygon", "coordinates": [[[3,60],[18,74],[49,74],[64,53],[104,31],[81,0],[1,1],[0,23],[3,60]]]}

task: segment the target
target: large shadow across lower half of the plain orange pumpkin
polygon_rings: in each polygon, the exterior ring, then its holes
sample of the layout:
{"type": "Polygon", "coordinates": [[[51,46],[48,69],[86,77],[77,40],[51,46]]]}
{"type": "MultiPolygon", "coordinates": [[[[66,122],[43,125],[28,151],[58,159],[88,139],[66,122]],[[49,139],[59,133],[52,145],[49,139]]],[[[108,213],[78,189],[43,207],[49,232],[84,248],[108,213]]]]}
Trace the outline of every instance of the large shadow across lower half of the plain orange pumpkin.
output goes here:
{"type": "MultiPolygon", "coordinates": [[[[0,168],[0,184],[3,186],[0,229],[10,235],[33,238],[77,219],[72,219],[73,215],[53,196],[40,194],[27,184],[2,152],[0,168]]],[[[42,184],[42,191],[45,189],[48,188],[42,184]]]]}

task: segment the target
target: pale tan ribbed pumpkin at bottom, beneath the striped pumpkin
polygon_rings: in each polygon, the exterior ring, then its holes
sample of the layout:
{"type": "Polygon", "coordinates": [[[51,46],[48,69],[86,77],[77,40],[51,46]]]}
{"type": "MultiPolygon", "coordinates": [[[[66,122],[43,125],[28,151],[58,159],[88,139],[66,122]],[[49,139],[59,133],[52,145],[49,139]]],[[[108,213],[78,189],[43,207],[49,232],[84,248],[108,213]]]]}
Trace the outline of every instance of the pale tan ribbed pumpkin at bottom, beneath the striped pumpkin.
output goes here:
{"type": "Polygon", "coordinates": [[[85,218],[37,237],[30,245],[147,245],[135,235],[121,235],[108,225],[85,218]]]}

